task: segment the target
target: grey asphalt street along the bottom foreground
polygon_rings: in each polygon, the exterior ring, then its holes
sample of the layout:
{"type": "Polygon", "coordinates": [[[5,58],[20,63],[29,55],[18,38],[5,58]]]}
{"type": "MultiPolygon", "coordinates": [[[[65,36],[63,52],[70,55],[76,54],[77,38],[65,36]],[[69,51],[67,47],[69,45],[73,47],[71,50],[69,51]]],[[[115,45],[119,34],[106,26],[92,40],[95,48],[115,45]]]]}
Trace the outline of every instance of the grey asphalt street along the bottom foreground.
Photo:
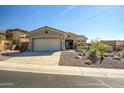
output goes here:
{"type": "Polygon", "coordinates": [[[0,88],[124,88],[124,78],[0,70],[0,88]]]}

